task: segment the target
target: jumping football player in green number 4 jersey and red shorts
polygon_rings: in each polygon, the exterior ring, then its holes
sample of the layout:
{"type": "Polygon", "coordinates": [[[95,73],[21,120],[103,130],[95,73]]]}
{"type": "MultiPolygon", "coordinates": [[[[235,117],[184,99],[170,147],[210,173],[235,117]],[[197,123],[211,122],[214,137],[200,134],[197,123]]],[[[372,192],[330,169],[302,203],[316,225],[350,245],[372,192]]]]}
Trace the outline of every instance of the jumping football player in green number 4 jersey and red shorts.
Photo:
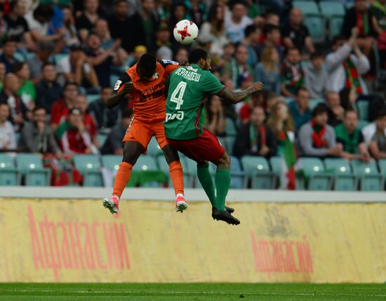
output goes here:
{"type": "Polygon", "coordinates": [[[202,126],[201,110],[207,94],[236,104],[261,91],[262,83],[253,83],[244,91],[230,91],[211,73],[211,56],[203,49],[190,53],[189,64],[176,69],[166,79],[166,138],[171,147],[197,162],[197,175],[211,201],[213,219],[239,225],[240,221],[231,214],[234,210],[225,206],[230,185],[230,159],[215,135],[202,126]],[[217,166],[215,185],[208,161],[217,166]]]}

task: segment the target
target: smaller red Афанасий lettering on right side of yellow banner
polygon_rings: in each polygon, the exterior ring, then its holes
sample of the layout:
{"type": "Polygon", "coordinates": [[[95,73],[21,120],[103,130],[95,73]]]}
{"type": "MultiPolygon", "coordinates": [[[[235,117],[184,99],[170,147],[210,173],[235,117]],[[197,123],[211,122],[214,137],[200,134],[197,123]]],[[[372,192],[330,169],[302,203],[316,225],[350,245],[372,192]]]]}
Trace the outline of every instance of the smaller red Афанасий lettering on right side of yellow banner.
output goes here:
{"type": "Polygon", "coordinates": [[[312,256],[306,237],[302,241],[266,241],[251,232],[255,271],[267,273],[312,273],[312,256]]]}

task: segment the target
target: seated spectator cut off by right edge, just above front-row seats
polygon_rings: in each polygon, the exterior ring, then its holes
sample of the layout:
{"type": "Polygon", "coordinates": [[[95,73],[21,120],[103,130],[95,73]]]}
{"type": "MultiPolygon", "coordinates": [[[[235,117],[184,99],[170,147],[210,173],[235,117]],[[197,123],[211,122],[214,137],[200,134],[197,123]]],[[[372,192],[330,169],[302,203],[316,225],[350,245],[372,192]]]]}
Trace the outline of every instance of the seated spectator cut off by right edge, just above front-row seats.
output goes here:
{"type": "Polygon", "coordinates": [[[386,112],[382,111],[375,119],[375,133],[368,147],[371,155],[379,160],[386,159],[386,112]]]}

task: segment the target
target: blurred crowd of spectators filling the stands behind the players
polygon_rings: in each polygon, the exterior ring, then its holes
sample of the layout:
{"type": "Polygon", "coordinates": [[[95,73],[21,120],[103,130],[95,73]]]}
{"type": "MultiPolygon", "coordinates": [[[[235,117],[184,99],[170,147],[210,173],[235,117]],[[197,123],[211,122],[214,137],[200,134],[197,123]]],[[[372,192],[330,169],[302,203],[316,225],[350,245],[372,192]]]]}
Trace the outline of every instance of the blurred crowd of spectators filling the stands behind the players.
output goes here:
{"type": "Polygon", "coordinates": [[[299,156],[386,159],[385,91],[371,89],[386,0],[337,1],[340,34],[326,23],[316,41],[291,0],[1,0],[0,151],[122,154],[131,103],[107,108],[119,76],[143,53],[185,64],[201,47],[227,88],[264,84],[236,106],[208,95],[206,126],[229,154],[281,156],[289,139],[299,156]],[[191,46],[173,39],[184,19],[199,27],[191,46]]]}

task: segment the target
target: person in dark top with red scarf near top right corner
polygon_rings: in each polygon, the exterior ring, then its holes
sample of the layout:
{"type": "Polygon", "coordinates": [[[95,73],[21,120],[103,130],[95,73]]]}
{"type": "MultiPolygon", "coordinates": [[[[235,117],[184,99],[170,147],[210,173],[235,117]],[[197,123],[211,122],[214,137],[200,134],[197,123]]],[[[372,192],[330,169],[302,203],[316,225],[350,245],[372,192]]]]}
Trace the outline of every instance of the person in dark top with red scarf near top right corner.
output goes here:
{"type": "Polygon", "coordinates": [[[373,27],[373,13],[367,6],[367,0],[355,0],[354,6],[346,11],[342,25],[342,34],[348,39],[352,29],[357,28],[357,44],[368,56],[375,43],[375,29],[373,27]]]}

